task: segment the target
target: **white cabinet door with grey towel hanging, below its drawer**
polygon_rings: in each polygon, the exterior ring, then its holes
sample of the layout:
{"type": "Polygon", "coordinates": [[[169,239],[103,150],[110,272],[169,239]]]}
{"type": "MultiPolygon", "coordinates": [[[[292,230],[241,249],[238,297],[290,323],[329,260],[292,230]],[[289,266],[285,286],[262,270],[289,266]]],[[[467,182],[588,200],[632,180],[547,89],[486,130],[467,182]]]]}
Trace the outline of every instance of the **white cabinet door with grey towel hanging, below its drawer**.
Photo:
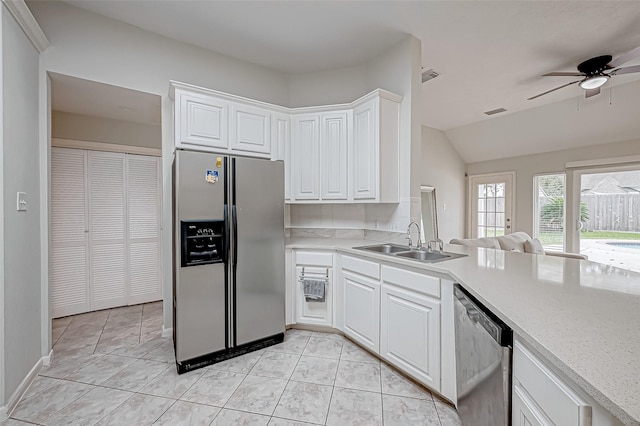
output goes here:
{"type": "MultiPolygon", "coordinates": [[[[298,324],[323,325],[332,327],[332,297],[333,288],[331,280],[331,269],[329,269],[329,282],[325,287],[324,302],[307,302],[304,297],[303,284],[300,281],[302,274],[302,266],[296,267],[296,322],[298,324]]],[[[312,274],[318,278],[324,277],[327,268],[305,266],[305,274],[312,274]]]]}

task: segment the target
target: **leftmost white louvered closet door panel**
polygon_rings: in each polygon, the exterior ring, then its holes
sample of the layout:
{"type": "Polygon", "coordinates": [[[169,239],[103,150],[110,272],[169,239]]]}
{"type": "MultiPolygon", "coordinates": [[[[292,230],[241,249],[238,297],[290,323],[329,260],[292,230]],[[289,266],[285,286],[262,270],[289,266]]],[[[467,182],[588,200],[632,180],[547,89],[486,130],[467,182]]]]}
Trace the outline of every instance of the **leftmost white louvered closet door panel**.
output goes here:
{"type": "Polygon", "coordinates": [[[89,310],[87,152],[51,149],[51,270],[53,318],[89,310]]]}

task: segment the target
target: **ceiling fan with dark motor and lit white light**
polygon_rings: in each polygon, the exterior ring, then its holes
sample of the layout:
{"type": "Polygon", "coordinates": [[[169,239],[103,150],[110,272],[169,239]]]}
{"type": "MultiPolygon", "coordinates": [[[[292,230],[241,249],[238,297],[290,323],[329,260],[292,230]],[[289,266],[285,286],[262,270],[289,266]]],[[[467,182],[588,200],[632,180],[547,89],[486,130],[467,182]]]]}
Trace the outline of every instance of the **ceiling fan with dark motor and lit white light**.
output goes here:
{"type": "Polygon", "coordinates": [[[624,53],[617,58],[613,59],[611,55],[596,56],[595,58],[587,59],[578,65],[578,72],[550,72],[542,74],[542,77],[583,77],[581,80],[572,81],[571,83],[563,84],[555,89],[547,90],[539,95],[532,96],[528,101],[539,98],[547,93],[555,92],[563,87],[571,86],[578,83],[580,87],[585,89],[585,98],[590,98],[600,93],[600,87],[604,85],[609,79],[618,74],[631,74],[634,72],[640,72],[640,65],[634,65],[631,67],[617,68],[620,65],[629,62],[630,60],[640,56],[640,47],[636,47],[627,53],[624,53]]]}

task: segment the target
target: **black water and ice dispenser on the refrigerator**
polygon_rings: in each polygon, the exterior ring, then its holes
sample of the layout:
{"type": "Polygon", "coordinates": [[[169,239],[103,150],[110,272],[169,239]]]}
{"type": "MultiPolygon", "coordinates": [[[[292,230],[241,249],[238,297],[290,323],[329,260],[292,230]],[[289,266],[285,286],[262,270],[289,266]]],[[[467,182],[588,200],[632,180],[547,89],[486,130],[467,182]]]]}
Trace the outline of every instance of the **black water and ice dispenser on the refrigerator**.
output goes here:
{"type": "Polygon", "coordinates": [[[225,261],[224,220],[180,221],[182,266],[225,261]]]}

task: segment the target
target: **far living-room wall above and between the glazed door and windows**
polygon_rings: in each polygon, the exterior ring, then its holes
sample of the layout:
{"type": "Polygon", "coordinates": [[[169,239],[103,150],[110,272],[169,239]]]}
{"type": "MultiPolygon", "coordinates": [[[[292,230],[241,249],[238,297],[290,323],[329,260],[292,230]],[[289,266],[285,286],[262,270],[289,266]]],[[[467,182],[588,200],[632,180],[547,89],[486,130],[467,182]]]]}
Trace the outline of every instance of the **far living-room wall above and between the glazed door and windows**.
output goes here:
{"type": "MultiPolygon", "coordinates": [[[[533,234],[534,175],[564,172],[565,164],[571,161],[599,160],[628,155],[640,155],[640,140],[607,143],[584,148],[471,163],[467,164],[467,174],[472,176],[515,170],[516,229],[514,229],[514,231],[524,231],[531,235],[533,234]]],[[[567,185],[570,185],[570,176],[567,176],[567,178],[567,185]]]]}

